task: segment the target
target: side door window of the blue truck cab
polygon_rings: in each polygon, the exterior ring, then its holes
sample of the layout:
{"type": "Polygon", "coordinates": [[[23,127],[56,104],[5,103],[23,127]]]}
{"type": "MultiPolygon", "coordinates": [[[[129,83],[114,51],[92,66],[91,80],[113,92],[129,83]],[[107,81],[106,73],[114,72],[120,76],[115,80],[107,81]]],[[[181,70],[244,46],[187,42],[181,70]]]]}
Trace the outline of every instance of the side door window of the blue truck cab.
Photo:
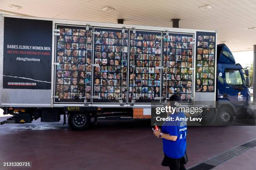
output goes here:
{"type": "Polygon", "coordinates": [[[226,82],[231,86],[243,86],[240,70],[226,69],[225,78],[226,82]]]}

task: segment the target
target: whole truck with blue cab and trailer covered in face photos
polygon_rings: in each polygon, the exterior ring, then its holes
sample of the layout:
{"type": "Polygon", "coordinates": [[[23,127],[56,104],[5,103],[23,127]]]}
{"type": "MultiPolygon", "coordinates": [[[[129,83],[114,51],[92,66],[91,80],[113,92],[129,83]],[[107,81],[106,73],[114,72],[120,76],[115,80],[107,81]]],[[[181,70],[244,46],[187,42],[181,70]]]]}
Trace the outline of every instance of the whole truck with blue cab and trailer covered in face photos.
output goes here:
{"type": "Polygon", "coordinates": [[[217,31],[0,17],[1,122],[150,119],[152,102],[216,102],[205,120],[230,124],[250,101],[248,70],[217,31]]]}

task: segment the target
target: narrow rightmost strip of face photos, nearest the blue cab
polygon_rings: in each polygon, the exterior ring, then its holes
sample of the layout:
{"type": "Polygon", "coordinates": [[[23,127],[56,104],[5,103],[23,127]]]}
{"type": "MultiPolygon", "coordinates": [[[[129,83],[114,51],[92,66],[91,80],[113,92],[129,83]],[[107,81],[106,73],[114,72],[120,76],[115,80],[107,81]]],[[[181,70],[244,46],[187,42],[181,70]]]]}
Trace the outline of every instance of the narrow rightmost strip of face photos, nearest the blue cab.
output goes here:
{"type": "Polygon", "coordinates": [[[197,32],[196,92],[214,92],[215,33],[197,32]]]}

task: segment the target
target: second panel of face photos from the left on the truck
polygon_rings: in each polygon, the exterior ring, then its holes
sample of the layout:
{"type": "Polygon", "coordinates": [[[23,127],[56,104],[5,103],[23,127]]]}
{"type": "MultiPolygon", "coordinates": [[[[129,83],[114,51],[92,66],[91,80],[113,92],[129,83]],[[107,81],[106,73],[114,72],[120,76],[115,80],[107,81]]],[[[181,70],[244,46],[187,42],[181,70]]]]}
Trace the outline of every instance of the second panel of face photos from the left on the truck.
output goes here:
{"type": "Polygon", "coordinates": [[[95,28],[92,102],[126,103],[128,30],[95,28]]]}

